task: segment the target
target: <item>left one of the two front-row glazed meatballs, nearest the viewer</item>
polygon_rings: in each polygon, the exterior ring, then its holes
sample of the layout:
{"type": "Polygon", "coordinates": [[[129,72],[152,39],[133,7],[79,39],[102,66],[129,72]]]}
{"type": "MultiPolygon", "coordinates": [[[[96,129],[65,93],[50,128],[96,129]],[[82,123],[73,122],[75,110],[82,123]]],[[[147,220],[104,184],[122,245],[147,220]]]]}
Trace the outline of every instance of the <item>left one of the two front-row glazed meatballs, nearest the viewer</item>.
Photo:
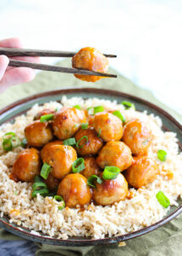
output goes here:
{"type": "Polygon", "coordinates": [[[57,195],[61,195],[66,207],[81,207],[90,203],[91,192],[87,178],[80,173],[71,173],[60,182],[57,195]]]}

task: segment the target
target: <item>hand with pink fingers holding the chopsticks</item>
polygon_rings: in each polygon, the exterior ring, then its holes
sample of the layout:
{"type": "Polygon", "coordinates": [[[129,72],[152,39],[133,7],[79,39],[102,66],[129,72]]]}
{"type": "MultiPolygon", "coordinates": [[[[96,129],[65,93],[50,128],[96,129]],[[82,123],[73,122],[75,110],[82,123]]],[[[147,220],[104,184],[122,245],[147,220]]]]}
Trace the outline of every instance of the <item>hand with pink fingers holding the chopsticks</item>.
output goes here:
{"type": "MultiPolygon", "coordinates": [[[[22,48],[19,38],[9,38],[0,41],[0,47],[22,48]]],[[[37,57],[14,57],[14,60],[39,62],[37,57]]],[[[22,84],[35,78],[35,72],[29,67],[8,67],[9,58],[0,55],[0,93],[7,90],[9,86],[22,84]]]]}

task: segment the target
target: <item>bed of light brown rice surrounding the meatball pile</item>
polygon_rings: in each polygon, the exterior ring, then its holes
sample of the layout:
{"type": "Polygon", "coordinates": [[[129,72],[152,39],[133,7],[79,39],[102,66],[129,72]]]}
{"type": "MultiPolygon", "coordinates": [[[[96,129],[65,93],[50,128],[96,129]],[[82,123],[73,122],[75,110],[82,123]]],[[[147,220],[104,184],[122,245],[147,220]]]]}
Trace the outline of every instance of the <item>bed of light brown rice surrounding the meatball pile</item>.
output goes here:
{"type": "Polygon", "coordinates": [[[61,103],[48,102],[43,106],[36,104],[26,115],[15,118],[14,124],[8,123],[0,127],[0,216],[8,215],[10,223],[26,227],[32,230],[33,234],[42,231],[46,236],[62,239],[67,239],[69,236],[103,238],[139,230],[156,223],[167,213],[168,209],[162,207],[156,200],[156,193],[159,190],[168,196],[171,205],[178,205],[176,200],[179,195],[182,197],[182,154],[179,154],[175,133],[163,132],[161,119],[153,114],[139,113],[132,108],[124,110],[123,106],[115,101],[97,98],[84,101],[79,97],[67,99],[63,96],[61,103]],[[43,108],[55,109],[61,105],[70,107],[77,104],[84,109],[102,105],[105,110],[122,110],[127,120],[141,119],[151,130],[152,143],[148,155],[156,160],[160,175],[146,187],[138,190],[130,189],[132,199],[107,207],[91,204],[85,207],[84,211],[79,207],[75,209],[65,207],[60,211],[58,209],[60,202],[54,201],[51,197],[43,198],[37,195],[37,198],[31,199],[31,183],[15,183],[9,179],[14,160],[23,148],[14,148],[9,153],[3,152],[3,134],[14,131],[17,137],[23,139],[26,125],[29,125],[36,113],[43,108]],[[168,152],[166,161],[161,162],[157,159],[158,149],[168,152]]]}

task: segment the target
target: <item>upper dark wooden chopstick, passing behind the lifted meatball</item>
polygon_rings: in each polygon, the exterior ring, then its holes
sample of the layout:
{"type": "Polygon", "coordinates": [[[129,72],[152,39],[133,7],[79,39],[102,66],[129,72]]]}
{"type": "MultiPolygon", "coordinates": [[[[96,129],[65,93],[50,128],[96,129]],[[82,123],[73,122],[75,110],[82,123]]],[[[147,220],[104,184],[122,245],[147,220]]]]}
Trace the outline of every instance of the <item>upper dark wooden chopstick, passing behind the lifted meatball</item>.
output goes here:
{"type": "MultiPolygon", "coordinates": [[[[7,55],[8,57],[14,57],[14,56],[72,57],[73,55],[76,55],[76,52],[48,50],[48,49],[14,49],[14,48],[0,47],[0,55],[7,55]]],[[[105,57],[116,58],[117,55],[105,55],[105,57]]]]}

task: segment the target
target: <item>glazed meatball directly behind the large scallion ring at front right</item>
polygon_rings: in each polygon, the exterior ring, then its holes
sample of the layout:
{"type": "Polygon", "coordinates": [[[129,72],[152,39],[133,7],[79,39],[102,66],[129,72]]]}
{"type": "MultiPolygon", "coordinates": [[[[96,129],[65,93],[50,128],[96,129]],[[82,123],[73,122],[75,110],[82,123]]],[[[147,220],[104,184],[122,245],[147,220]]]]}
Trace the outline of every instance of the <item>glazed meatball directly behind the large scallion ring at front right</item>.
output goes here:
{"type": "Polygon", "coordinates": [[[115,141],[106,143],[97,157],[97,164],[101,168],[104,169],[105,166],[117,166],[121,172],[131,166],[132,161],[132,152],[128,146],[122,142],[115,141]]]}

